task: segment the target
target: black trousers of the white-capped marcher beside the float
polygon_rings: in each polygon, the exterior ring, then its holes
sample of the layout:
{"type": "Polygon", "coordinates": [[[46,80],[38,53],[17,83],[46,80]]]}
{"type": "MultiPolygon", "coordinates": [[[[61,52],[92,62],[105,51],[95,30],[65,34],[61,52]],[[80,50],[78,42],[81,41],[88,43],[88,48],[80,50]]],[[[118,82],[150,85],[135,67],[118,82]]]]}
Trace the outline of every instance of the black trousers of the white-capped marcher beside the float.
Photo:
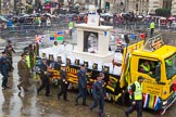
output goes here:
{"type": "Polygon", "coordinates": [[[63,99],[67,100],[67,83],[61,82],[61,90],[58,94],[58,98],[60,98],[63,94],[63,99]]]}

